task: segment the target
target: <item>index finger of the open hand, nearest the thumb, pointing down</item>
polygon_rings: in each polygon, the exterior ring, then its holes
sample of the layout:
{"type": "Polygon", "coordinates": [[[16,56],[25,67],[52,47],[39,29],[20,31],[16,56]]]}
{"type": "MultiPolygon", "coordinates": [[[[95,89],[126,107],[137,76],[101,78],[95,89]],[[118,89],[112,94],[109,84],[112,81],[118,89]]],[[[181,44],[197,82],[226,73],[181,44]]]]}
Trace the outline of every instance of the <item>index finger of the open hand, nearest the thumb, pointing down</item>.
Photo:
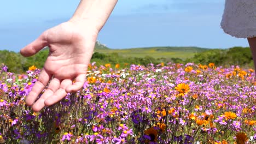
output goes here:
{"type": "Polygon", "coordinates": [[[41,73],[38,76],[38,80],[36,81],[36,83],[34,83],[34,86],[31,92],[26,97],[27,105],[32,105],[34,103],[38,95],[47,86],[50,79],[51,79],[51,74],[47,73],[44,69],[42,69],[41,73]]]}

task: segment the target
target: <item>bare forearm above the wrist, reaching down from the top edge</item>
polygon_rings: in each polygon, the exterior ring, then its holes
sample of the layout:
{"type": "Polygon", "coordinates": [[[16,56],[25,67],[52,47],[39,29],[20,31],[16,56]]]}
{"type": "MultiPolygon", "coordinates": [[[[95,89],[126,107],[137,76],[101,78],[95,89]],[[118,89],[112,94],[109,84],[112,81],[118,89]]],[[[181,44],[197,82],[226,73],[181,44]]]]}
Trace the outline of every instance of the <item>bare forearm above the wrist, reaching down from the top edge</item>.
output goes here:
{"type": "Polygon", "coordinates": [[[117,2],[118,0],[81,0],[71,20],[90,21],[100,31],[117,2]]]}

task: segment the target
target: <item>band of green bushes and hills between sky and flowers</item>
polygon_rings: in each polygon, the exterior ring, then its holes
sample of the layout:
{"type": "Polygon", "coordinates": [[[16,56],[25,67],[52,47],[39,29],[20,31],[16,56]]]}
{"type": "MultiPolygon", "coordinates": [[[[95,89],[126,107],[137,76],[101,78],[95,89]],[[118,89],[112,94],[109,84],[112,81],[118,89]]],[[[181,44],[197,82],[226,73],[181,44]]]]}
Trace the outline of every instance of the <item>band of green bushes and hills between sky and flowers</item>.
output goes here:
{"type": "MultiPolygon", "coordinates": [[[[6,64],[9,71],[24,73],[31,65],[43,68],[48,53],[49,49],[44,49],[32,57],[25,58],[20,53],[3,50],[0,51],[0,62],[6,64]]],[[[149,63],[159,64],[161,62],[193,62],[201,64],[215,63],[216,65],[226,66],[240,65],[241,67],[253,68],[252,53],[249,47],[232,47],[225,50],[200,49],[199,47],[151,47],[148,50],[139,48],[113,50],[108,49],[106,46],[96,44],[96,50],[92,55],[91,62],[96,62],[97,65],[106,63],[115,65],[119,63],[120,67],[125,65],[125,63],[147,65],[149,63]],[[101,49],[104,53],[98,52],[98,49],[101,49]],[[176,56],[177,53],[179,53],[178,55],[182,55],[183,53],[184,55],[191,55],[193,57],[181,58],[176,56]]]]}

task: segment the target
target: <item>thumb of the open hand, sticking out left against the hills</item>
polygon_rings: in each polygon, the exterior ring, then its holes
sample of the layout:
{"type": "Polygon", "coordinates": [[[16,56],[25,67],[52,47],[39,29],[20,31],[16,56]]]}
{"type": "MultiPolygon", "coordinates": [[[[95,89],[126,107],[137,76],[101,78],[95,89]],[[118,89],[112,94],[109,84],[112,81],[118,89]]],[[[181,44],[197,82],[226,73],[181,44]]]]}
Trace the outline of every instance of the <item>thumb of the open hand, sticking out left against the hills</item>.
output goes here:
{"type": "Polygon", "coordinates": [[[28,44],[23,49],[20,50],[22,56],[28,57],[36,54],[38,51],[43,49],[45,46],[48,46],[47,33],[45,31],[41,34],[36,40],[34,40],[31,44],[28,44]]]}

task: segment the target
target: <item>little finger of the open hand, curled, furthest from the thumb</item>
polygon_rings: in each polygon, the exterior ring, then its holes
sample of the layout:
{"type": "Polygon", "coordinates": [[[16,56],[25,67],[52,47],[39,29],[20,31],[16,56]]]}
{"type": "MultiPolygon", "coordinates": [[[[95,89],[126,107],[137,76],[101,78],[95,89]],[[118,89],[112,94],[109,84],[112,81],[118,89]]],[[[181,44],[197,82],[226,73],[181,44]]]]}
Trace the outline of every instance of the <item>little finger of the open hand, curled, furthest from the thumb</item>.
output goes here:
{"type": "Polygon", "coordinates": [[[66,88],[66,92],[71,93],[71,92],[76,92],[80,88],[84,86],[86,74],[80,74],[75,78],[75,82],[73,85],[70,85],[66,88]]]}

